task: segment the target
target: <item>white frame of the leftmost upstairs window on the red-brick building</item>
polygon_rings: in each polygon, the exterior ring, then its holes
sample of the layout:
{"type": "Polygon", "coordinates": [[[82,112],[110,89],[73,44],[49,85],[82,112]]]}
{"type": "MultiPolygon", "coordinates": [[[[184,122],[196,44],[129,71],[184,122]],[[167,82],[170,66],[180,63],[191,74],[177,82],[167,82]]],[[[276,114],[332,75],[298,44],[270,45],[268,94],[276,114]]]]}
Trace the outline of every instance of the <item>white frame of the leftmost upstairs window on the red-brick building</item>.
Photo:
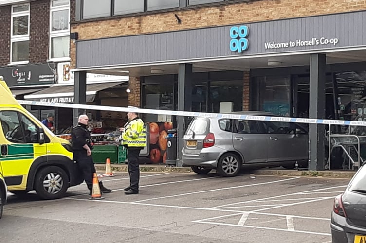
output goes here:
{"type": "Polygon", "coordinates": [[[31,13],[30,12],[31,11],[30,11],[30,4],[29,3],[12,5],[12,8],[11,8],[11,25],[10,25],[10,65],[29,63],[29,60],[19,61],[19,62],[13,62],[12,60],[13,60],[13,43],[14,42],[20,42],[20,41],[29,41],[29,31],[30,31],[30,23],[31,23],[31,13]],[[23,6],[23,5],[28,5],[28,10],[27,11],[21,11],[21,12],[13,13],[14,7],[23,6]],[[28,15],[28,33],[26,35],[15,35],[15,36],[13,36],[13,18],[14,17],[20,17],[20,16],[25,16],[25,15],[28,15]]]}

